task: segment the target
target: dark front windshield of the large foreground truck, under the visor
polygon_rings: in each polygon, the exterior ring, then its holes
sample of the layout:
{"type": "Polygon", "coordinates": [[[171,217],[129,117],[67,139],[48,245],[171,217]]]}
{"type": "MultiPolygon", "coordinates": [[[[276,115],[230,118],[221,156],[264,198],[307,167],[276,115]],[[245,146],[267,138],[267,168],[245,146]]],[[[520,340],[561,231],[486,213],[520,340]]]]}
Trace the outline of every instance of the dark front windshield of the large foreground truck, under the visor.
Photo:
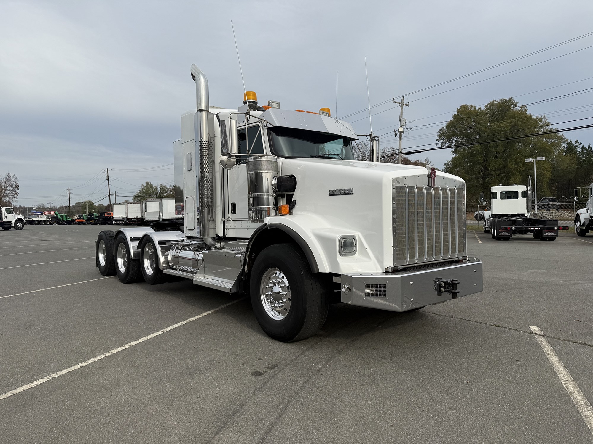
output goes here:
{"type": "Polygon", "coordinates": [[[296,128],[268,128],[272,153],[280,157],[323,157],[354,160],[352,139],[296,128]]]}

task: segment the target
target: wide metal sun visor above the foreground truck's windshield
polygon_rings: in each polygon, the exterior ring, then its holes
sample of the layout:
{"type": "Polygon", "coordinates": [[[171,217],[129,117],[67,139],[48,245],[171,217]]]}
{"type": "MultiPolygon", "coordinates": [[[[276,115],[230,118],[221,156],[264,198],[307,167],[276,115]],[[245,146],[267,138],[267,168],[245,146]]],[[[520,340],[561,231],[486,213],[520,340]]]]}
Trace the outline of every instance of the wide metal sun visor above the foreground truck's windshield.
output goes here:
{"type": "Polygon", "coordinates": [[[270,108],[261,118],[273,126],[298,128],[299,130],[319,131],[358,139],[349,123],[312,112],[288,111],[270,108]]]}

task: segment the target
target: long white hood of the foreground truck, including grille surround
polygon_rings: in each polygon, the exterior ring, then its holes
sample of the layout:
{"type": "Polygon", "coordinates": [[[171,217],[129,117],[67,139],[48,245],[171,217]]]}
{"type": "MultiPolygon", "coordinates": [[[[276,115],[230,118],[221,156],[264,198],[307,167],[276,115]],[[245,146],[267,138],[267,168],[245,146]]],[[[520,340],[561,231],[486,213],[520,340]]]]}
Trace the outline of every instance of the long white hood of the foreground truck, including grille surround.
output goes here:
{"type": "MultiPolygon", "coordinates": [[[[340,236],[355,235],[357,257],[336,257],[336,261],[357,262],[361,272],[384,271],[394,265],[394,190],[401,185],[410,190],[427,186],[430,173],[422,166],[315,158],[279,159],[279,170],[282,175],[294,175],[297,188],[292,196],[296,201],[293,213],[276,219],[286,224],[293,220],[295,230],[304,227],[307,231],[302,233],[304,239],[336,255],[340,236]]],[[[464,189],[465,184],[457,176],[438,171],[436,186],[464,189]]],[[[465,208],[464,191],[459,196],[465,208]]]]}

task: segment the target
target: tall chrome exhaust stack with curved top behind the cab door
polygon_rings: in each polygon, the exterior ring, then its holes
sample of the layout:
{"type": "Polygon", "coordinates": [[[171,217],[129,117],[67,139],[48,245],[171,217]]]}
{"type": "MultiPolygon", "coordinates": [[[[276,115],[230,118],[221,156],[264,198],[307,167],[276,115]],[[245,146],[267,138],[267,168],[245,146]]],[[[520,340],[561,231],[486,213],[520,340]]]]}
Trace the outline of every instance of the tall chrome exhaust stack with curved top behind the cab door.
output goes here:
{"type": "Polygon", "coordinates": [[[216,206],[214,200],[214,125],[215,116],[210,112],[208,79],[192,64],[192,79],[196,82],[196,149],[199,155],[197,197],[200,206],[200,237],[208,246],[219,247],[216,238],[216,206]]]}

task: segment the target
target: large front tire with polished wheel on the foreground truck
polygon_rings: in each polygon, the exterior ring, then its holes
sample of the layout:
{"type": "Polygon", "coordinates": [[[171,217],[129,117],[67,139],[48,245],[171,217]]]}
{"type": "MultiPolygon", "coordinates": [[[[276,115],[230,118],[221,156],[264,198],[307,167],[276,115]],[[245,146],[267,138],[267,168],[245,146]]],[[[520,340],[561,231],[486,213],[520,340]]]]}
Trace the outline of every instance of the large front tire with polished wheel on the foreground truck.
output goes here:
{"type": "Polygon", "coordinates": [[[317,333],[327,317],[329,298],[323,282],[292,244],[269,246],[257,256],[250,294],[257,322],[268,336],[282,342],[317,333]]]}

